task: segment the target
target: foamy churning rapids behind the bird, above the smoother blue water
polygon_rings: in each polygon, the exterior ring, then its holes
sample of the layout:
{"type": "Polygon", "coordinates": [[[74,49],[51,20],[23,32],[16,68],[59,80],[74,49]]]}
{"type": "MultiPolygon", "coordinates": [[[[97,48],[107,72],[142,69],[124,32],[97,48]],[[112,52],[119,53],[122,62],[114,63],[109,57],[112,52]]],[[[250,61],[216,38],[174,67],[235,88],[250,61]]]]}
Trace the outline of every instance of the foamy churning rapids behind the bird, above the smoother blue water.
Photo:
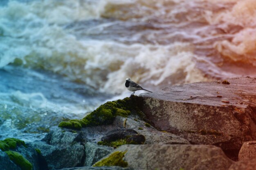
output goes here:
{"type": "Polygon", "coordinates": [[[0,7],[0,68],[45,69],[112,94],[127,77],[159,89],[254,75],[255,9],[254,0],[13,0],[0,7]]]}

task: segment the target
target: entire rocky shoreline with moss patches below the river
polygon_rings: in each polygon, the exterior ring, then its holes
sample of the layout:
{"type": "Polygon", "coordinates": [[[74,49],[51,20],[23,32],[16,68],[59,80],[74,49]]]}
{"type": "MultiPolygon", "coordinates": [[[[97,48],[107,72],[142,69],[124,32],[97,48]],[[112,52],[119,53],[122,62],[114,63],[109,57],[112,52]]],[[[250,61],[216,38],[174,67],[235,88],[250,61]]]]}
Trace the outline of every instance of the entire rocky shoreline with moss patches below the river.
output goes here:
{"type": "Polygon", "coordinates": [[[8,140],[1,170],[255,170],[256,78],[166,87],[107,102],[41,141],[8,140]]]}

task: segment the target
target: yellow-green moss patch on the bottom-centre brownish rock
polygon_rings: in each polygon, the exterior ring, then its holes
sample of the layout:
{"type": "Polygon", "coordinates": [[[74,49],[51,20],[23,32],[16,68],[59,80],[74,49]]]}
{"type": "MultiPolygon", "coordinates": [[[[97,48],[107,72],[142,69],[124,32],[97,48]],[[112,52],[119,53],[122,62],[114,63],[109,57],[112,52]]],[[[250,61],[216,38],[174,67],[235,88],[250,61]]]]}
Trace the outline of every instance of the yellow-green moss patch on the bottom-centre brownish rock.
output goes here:
{"type": "Polygon", "coordinates": [[[109,157],[107,157],[105,159],[102,159],[101,161],[98,161],[93,166],[94,167],[97,167],[97,166],[121,166],[121,167],[127,167],[128,163],[123,160],[125,153],[126,152],[120,152],[120,151],[114,152],[114,153],[110,154],[109,157]]]}

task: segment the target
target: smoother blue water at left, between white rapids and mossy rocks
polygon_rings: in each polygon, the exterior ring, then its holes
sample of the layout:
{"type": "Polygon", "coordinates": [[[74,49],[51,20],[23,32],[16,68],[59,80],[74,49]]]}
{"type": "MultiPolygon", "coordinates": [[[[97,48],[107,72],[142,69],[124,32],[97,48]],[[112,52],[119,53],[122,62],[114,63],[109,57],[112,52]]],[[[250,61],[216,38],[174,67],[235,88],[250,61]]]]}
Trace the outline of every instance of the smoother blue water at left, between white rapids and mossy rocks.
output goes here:
{"type": "Polygon", "coordinates": [[[0,69],[0,139],[41,139],[59,122],[81,119],[109,95],[43,70],[0,69]]]}

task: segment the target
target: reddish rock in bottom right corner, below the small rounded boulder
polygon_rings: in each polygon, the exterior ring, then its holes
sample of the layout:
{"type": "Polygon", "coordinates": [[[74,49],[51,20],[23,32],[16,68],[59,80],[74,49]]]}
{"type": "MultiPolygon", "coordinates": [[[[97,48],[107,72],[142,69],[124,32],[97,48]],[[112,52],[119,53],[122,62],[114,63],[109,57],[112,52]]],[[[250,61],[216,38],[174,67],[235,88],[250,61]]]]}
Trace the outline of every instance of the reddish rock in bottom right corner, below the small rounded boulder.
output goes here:
{"type": "Polygon", "coordinates": [[[231,165],[228,170],[256,170],[256,158],[238,161],[231,165]]]}

